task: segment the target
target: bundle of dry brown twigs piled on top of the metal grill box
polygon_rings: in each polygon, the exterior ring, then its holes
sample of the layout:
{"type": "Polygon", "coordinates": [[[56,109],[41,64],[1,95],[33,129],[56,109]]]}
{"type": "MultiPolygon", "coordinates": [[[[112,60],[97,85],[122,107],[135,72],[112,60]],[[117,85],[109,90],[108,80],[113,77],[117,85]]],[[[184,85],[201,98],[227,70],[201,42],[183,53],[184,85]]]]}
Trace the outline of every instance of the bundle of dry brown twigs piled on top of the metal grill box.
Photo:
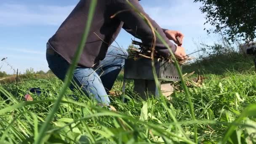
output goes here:
{"type": "MultiPolygon", "coordinates": [[[[140,59],[140,58],[146,58],[146,59],[152,59],[151,58],[151,48],[150,46],[144,45],[143,43],[137,42],[135,40],[132,41],[133,45],[139,45],[139,49],[136,48],[129,48],[131,51],[129,58],[130,59],[140,59]]],[[[157,61],[168,61],[169,63],[174,63],[174,60],[170,56],[168,59],[164,58],[163,56],[160,56],[160,54],[155,51],[154,59],[157,59],[157,61]]],[[[179,64],[186,64],[187,61],[192,60],[193,58],[190,56],[187,56],[186,59],[180,59],[176,57],[176,59],[179,61],[179,64]]]]}

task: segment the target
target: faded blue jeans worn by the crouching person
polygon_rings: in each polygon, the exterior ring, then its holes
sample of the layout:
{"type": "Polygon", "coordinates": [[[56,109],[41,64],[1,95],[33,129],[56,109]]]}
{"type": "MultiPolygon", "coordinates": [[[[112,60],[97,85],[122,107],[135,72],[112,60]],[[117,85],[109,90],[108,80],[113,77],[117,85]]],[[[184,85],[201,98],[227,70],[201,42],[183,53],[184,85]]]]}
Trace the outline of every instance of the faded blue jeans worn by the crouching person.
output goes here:
{"type": "MultiPolygon", "coordinates": [[[[110,47],[105,59],[100,61],[97,67],[77,67],[73,76],[73,84],[69,88],[71,90],[79,88],[87,96],[94,97],[99,103],[109,105],[108,93],[124,67],[127,56],[128,54],[124,49],[110,47]]],[[[49,48],[46,52],[46,59],[54,75],[64,81],[69,63],[52,49],[49,50],[49,48]]]]}

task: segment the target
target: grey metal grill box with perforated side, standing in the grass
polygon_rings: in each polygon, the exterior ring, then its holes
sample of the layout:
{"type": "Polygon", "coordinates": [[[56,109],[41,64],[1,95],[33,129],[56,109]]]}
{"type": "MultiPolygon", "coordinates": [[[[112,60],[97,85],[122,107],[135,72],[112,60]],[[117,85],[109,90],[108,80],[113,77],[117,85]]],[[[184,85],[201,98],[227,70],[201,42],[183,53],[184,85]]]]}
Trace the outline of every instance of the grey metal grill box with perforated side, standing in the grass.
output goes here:
{"type": "MultiPolygon", "coordinates": [[[[171,83],[171,81],[180,81],[178,71],[173,63],[155,61],[155,68],[157,78],[160,81],[160,88],[163,86],[166,89],[166,83],[171,83]]],[[[157,85],[155,85],[151,59],[138,59],[136,61],[125,59],[123,93],[125,92],[125,80],[127,79],[134,80],[134,91],[141,96],[147,97],[145,93],[149,92],[154,96],[159,96],[157,85]]]]}

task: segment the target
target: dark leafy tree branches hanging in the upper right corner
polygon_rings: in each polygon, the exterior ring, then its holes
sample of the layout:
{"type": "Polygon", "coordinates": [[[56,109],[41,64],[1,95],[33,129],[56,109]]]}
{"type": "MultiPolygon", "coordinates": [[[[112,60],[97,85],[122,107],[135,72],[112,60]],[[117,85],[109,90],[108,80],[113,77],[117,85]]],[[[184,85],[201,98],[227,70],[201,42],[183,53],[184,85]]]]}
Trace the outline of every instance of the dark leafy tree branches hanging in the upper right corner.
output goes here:
{"type": "MultiPolygon", "coordinates": [[[[206,14],[206,23],[215,29],[214,33],[221,32],[228,40],[251,41],[256,38],[256,0],[194,0],[201,2],[202,13],[206,14]]],[[[209,30],[207,30],[210,33],[209,30]]]]}

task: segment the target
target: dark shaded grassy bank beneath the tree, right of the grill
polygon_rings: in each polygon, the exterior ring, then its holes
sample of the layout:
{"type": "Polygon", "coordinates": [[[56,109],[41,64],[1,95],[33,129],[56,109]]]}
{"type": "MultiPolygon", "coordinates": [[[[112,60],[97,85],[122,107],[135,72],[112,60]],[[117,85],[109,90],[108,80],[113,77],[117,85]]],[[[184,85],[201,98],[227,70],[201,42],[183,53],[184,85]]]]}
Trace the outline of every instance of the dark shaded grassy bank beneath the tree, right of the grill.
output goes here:
{"type": "Polygon", "coordinates": [[[224,75],[230,72],[254,71],[255,56],[243,56],[236,51],[205,57],[183,67],[184,72],[195,71],[197,74],[224,75]]]}

